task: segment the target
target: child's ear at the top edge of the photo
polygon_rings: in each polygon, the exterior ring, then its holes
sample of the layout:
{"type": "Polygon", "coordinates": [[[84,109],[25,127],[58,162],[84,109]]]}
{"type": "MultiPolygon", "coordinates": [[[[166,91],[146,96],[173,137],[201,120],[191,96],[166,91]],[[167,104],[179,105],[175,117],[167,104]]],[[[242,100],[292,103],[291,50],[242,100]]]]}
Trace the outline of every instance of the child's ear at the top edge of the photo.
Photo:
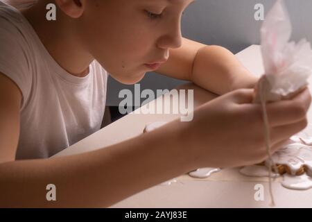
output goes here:
{"type": "Polygon", "coordinates": [[[55,0],[60,10],[72,18],[83,15],[85,10],[85,0],[55,0]]]}

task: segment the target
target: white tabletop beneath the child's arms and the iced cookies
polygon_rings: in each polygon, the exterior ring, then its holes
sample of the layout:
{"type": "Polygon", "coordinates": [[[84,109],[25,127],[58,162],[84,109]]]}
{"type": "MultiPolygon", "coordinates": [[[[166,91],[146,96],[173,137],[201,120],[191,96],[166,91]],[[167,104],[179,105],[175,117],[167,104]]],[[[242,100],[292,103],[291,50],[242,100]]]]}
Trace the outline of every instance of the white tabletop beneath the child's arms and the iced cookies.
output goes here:
{"type": "MultiPolygon", "coordinates": [[[[253,74],[257,76],[263,74],[259,46],[252,45],[236,54],[236,57],[253,74]]],[[[209,97],[213,99],[216,96],[207,94],[194,85],[183,86],[183,88],[188,87],[195,90],[195,105],[207,101],[209,97]]],[[[178,114],[128,114],[55,156],[73,155],[110,146],[141,134],[146,123],[171,121],[177,117],[179,117],[178,114]]],[[[311,117],[310,109],[309,119],[311,117]]],[[[310,124],[304,133],[312,136],[310,124]]],[[[286,189],[280,185],[279,180],[272,183],[275,207],[312,207],[312,189],[306,191],[286,189]]],[[[223,169],[207,179],[195,179],[183,175],[171,185],[157,185],[146,189],[112,207],[270,207],[268,178],[242,176],[239,169],[223,169]],[[254,185],[256,184],[264,187],[263,201],[254,200],[256,192],[254,185]]]]}

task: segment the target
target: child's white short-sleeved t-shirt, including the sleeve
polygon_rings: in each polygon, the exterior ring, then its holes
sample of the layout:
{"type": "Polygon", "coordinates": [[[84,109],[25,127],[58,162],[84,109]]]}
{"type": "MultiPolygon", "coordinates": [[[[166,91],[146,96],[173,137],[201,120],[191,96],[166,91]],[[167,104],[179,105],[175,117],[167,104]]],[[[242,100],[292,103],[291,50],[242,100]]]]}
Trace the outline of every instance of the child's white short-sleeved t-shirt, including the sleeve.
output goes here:
{"type": "Polygon", "coordinates": [[[51,157],[101,128],[107,71],[94,60],[87,76],[69,74],[24,15],[1,1],[0,72],[22,93],[17,160],[51,157]]]}

